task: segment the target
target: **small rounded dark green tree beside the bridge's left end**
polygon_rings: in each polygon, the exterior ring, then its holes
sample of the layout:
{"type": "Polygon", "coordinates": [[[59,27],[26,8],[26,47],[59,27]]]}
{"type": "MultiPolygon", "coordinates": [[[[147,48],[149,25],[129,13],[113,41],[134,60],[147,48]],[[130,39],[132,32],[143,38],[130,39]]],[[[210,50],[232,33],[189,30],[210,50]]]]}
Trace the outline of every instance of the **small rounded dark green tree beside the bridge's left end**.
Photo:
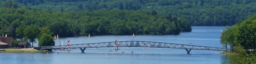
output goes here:
{"type": "Polygon", "coordinates": [[[50,36],[50,34],[44,33],[40,36],[38,46],[55,46],[55,41],[52,39],[52,36],[50,36]]]}

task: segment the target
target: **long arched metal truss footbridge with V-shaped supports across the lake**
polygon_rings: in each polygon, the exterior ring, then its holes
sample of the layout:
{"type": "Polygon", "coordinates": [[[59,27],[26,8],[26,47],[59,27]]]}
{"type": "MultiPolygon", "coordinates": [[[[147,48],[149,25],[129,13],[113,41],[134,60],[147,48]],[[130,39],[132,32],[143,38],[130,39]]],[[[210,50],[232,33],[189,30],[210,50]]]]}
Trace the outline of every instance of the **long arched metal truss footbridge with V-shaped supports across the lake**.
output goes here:
{"type": "Polygon", "coordinates": [[[63,46],[42,46],[42,50],[52,50],[61,48],[80,48],[82,52],[86,48],[101,48],[101,47],[150,47],[150,48],[178,48],[185,49],[188,53],[192,50],[219,50],[219,51],[230,51],[229,48],[217,48],[208,46],[195,46],[187,44],[174,44],[165,42],[148,42],[148,41],[117,41],[117,42],[98,42],[98,43],[87,43],[87,44],[72,44],[63,46]]]}

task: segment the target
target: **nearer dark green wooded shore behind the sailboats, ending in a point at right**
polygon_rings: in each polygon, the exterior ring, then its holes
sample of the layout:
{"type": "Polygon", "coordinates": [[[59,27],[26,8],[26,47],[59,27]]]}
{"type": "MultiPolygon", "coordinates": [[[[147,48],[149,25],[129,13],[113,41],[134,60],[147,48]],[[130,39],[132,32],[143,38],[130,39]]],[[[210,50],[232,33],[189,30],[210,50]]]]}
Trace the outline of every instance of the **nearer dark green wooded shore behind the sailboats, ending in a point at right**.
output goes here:
{"type": "MultiPolygon", "coordinates": [[[[26,8],[0,8],[0,34],[20,36],[26,28],[50,29],[59,37],[90,35],[167,35],[190,32],[185,18],[161,15],[156,11],[36,11],[26,8]],[[18,35],[16,35],[18,34],[18,35]]],[[[45,31],[47,32],[47,30],[45,31]]]]}

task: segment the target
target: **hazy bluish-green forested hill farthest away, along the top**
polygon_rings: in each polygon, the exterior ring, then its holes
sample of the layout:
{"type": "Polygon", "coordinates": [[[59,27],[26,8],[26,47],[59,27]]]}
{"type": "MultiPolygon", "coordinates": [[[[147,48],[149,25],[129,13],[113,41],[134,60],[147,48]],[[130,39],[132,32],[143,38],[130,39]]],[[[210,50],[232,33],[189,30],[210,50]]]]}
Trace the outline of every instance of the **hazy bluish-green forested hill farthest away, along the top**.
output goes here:
{"type": "MultiPolygon", "coordinates": [[[[0,0],[7,6],[6,0],[0,0]]],[[[194,26],[226,26],[256,12],[256,0],[12,0],[30,10],[156,10],[186,18],[194,26]]]]}

